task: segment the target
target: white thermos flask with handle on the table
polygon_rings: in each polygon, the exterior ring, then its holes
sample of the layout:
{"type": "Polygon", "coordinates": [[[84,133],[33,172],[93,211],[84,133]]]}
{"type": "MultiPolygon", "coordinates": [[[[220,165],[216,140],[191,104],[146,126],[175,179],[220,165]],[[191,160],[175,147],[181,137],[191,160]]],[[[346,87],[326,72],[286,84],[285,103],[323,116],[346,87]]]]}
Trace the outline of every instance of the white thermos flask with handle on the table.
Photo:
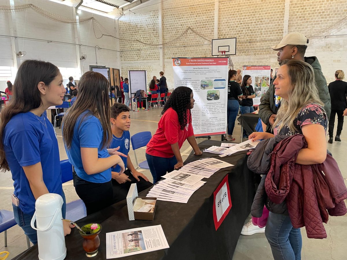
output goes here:
{"type": "Polygon", "coordinates": [[[37,230],[40,260],[62,260],[66,257],[64,228],[61,220],[62,205],[62,197],[55,193],[44,194],[35,202],[31,227],[37,230]]]}

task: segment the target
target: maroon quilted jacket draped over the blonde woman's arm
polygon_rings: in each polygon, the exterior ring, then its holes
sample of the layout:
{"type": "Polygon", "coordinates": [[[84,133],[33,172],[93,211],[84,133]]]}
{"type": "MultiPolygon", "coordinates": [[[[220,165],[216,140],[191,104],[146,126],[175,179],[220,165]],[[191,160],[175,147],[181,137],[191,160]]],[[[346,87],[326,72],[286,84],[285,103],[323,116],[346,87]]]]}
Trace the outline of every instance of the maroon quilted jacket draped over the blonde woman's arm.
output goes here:
{"type": "Polygon", "coordinates": [[[347,213],[347,188],[336,161],[327,155],[321,164],[296,164],[299,150],[307,148],[303,135],[280,141],[271,153],[271,166],[265,179],[270,201],[287,202],[294,228],[304,227],[308,238],[327,237],[323,222],[347,213]],[[328,212],[327,212],[328,210],[328,212]]]}

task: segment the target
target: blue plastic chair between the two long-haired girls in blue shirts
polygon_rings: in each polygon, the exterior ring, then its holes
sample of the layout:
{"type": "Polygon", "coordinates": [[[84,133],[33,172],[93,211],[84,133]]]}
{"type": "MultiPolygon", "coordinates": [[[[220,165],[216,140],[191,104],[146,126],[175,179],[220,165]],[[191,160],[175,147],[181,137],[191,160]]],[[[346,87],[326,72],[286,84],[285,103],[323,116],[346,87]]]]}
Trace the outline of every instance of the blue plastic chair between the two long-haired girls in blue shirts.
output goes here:
{"type": "MultiPolygon", "coordinates": [[[[60,169],[62,183],[74,179],[72,165],[68,159],[60,161],[60,169]]],[[[70,219],[75,222],[78,219],[84,218],[85,216],[87,216],[87,210],[84,202],[81,199],[66,203],[66,219],[70,219]]]]}

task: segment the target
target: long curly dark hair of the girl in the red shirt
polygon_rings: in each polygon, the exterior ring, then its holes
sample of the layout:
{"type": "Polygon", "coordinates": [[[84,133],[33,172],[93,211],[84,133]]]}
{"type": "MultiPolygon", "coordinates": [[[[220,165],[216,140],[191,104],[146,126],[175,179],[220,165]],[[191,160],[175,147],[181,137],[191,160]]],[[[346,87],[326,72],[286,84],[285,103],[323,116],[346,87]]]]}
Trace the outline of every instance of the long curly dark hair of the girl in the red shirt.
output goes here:
{"type": "Polygon", "coordinates": [[[161,112],[163,115],[170,107],[176,111],[178,115],[178,122],[181,126],[181,130],[186,127],[186,124],[192,123],[192,116],[188,119],[187,109],[191,110],[191,94],[193,90],[188,87],[177,87],[171,93],[170,97],[167,99],[164,109],[161,112]]]}

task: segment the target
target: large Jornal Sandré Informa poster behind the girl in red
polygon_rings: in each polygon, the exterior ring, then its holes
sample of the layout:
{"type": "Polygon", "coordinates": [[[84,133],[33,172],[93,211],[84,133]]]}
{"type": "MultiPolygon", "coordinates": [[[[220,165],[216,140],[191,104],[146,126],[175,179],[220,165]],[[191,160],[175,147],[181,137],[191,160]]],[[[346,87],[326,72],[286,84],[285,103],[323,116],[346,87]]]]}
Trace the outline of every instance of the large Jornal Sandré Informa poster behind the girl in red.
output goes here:
{"type": "Polygon", "coordinates": [[[193,90],[195,136],[222,135],[227,129],[228,58],[172,58],[174,88],[193,90]]]}

